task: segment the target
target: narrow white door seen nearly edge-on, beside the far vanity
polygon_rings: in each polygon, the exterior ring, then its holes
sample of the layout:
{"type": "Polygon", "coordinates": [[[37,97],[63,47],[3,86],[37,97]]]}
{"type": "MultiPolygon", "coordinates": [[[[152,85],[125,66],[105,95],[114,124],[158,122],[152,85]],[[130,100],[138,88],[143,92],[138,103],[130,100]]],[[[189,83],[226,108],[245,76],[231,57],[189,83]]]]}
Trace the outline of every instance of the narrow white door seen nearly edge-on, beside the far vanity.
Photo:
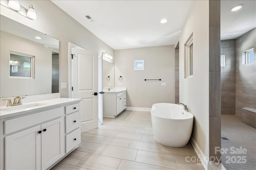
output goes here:
{"type": "Polygon", "coordinates": [[[98,59],[98,90],[99,90],[99,96],[98,96],[98,118],[101,124],[103,124],[103,89],[102,89],[102,63],[103,63],[103,57],[100,55],[98,59]]]}

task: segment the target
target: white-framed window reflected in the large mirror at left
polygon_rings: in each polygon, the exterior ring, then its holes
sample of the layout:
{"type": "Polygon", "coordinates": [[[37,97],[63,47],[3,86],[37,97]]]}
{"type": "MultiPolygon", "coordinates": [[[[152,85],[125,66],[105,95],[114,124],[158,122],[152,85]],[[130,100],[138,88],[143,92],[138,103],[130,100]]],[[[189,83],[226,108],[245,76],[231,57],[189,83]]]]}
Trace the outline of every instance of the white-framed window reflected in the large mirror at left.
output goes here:
{"type": "Polygon", "coordinates": [[[34,56],[22,53],[10,52],[10,77],[34,78],[34,56]]]}

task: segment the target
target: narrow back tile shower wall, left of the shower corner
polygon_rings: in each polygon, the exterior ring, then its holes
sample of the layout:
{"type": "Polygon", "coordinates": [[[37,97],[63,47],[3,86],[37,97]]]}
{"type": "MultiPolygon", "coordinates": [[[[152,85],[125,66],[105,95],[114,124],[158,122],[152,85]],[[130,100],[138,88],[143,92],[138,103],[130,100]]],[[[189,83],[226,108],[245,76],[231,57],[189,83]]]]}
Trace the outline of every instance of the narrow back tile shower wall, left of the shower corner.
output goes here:
{"type": "Polygon", "coordinates": [[[234,115],[236,109],[236,45],[235,39],[220,42],[220,55],[225,55],[225,66],[220,67],[221,114],[234,115]]]}

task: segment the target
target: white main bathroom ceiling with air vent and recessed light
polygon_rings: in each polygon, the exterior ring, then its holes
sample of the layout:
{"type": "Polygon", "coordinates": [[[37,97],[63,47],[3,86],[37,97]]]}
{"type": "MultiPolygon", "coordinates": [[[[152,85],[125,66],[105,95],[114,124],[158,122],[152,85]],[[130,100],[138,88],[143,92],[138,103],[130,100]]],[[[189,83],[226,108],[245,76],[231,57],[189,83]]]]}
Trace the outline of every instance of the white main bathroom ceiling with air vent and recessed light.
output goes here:
{"type": "Polygon", "coordinates": [[[52,2],[116,50],[176,44],[193,1],[52,2]],[[95,22],[86,19],[88,14],[95,22]],[[160,23],[163,18],[168,22],[160,23]]]}

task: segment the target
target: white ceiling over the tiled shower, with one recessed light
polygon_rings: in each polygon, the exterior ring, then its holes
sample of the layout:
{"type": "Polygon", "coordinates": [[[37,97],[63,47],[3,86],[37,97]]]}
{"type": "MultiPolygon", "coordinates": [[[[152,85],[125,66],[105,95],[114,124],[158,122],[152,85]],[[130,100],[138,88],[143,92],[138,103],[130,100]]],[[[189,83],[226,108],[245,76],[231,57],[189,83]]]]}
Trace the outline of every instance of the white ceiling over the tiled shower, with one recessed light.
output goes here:
{"type": "Polygon", "coordinates": [[[220,8],[220,37],[222,40],[236,39],[256,27],[255,0],[222,0],[220,8]],[[230,8],[238,4],[244,4],[244,6],[236,12],[230,12],[230,8]]]}

